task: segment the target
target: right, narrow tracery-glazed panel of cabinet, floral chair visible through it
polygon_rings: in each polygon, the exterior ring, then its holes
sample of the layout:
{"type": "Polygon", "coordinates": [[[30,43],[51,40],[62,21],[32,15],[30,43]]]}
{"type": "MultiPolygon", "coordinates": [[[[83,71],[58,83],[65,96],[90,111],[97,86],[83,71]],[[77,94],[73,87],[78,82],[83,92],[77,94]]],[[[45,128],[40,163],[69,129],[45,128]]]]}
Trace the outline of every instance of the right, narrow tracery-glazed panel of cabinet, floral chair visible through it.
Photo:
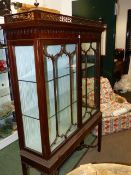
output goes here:
{"type": "Polygon", "coordinates": [[[82,70],[82,122],[86,122],[97,111],[95,102],[96,43],[81,44],[82,70]]]}

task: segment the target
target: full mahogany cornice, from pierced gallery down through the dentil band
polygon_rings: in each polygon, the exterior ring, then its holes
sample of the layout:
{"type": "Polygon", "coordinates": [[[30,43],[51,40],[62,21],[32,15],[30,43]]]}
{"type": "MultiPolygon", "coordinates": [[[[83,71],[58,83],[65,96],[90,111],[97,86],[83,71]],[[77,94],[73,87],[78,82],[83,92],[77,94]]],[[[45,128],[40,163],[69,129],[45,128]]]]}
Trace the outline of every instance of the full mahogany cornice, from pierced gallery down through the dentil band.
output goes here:
{"type": "MultiPolygon", "coordinates": [[[[78,17],[33,10],[5,16],[2,28],[7,39],[33,38],[77,38],[81,34],[86,39],[100,38],[104,25],[78,17]]],[[[83,38],[84,38],[83,37],[83,38]]]]}

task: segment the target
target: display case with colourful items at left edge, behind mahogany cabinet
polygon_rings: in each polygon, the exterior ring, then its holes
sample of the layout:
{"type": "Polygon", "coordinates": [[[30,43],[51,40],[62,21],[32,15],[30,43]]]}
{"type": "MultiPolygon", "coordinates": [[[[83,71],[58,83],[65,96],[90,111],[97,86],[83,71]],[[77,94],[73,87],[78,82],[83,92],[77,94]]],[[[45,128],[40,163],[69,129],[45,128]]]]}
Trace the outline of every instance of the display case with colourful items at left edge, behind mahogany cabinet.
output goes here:
{"type": "Polygon", "coordinates": [[[16,128],[7,46],[0,30],[0,149],[18,138],[16,128]]]}

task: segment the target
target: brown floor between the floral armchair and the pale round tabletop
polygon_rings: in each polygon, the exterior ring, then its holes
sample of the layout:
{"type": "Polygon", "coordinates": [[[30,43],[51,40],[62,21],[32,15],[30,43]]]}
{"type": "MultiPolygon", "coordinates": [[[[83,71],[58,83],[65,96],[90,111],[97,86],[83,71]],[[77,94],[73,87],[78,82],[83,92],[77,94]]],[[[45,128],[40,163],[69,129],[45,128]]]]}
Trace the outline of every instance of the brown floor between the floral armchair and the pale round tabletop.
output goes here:
{"type": "Polygon", "coordinates": [[[131,165],[130,138],[131,129],[103,136],[101,152],[98,152],[96,148],[89,149],[78,166],[105,162],[131,165]]]}

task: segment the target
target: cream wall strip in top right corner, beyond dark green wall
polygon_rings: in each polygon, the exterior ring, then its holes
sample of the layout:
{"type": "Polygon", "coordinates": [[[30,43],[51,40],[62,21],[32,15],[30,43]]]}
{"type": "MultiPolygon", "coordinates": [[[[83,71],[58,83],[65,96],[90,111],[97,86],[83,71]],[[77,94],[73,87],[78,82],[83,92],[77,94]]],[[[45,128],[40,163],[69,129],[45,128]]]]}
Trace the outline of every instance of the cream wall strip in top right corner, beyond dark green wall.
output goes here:
{"type": "Polygon", "coordinates": [[[128,9],[131,9],[131,0],[119,0],[118,9],[115,47],[125,49],[127,14],[128,9]]]}

